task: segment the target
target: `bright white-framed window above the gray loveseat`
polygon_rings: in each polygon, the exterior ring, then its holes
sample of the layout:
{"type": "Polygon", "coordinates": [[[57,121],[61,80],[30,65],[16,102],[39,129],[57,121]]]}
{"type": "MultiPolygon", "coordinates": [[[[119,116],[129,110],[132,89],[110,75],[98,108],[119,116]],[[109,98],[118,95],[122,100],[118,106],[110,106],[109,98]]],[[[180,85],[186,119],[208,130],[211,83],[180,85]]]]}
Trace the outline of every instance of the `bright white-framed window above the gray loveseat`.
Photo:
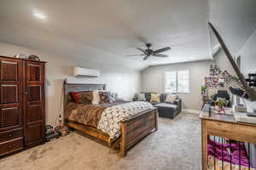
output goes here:
{"type": "Polygon", "coordinates": [[[166,93],[189,93],[189,71],[168,71],[164,73],[166,93]]]}

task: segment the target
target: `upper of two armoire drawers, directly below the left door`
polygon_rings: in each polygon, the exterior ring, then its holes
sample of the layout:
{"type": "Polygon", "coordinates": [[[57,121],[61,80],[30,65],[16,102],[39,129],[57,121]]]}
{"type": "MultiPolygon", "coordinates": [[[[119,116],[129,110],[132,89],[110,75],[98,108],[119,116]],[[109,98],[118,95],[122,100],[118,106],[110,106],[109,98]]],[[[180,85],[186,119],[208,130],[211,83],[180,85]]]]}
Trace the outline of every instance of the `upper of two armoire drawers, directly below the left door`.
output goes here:
{"type": "Polygon", "coordinates": [[[12,139],[18,139],[22,136],[23,136],[22,128],[3,132],[3,133],[0,133],[0,143],[7,142],[12,139]]]}

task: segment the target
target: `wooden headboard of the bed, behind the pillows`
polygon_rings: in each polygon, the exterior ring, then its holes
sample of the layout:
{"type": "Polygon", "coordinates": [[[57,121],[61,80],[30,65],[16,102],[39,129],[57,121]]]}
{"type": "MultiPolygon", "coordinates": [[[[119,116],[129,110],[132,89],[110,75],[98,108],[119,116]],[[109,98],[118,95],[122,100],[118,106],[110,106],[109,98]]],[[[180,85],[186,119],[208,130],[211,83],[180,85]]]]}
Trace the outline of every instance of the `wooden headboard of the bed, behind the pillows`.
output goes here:
{"type": "Polygon", "coordinates": [[[92,91],[92,90],[106,90],[106,84],[78,84],[78,83],[64,83],[64,117],[66,107],[71,102],[70,92],[92,91]]]}

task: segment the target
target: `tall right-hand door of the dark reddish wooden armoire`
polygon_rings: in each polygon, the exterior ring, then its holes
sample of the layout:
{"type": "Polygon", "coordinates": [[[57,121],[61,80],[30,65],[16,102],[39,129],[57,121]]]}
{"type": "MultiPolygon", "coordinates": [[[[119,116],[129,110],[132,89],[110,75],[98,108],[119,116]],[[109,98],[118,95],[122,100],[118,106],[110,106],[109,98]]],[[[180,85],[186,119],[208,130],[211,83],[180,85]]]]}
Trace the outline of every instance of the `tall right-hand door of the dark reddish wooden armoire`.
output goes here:
{"type": "Polygon", "coordinates": [[[25,144],[44,142],[44,63],[25,62],[25,144]]]}

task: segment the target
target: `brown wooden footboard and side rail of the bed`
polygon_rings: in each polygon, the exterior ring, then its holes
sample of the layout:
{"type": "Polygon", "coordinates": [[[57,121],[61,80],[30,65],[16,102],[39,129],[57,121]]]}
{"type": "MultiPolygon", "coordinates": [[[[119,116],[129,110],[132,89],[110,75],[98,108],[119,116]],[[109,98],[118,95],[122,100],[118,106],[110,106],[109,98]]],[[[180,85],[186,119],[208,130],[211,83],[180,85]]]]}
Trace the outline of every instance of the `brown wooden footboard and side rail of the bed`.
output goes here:
{"type": "Polygon", "coordinates": [[[137,144],[141,139],[157,130],[158,114],[157,110],[144,111],[136,116],[131,116],[129,119],[125,119],[120,122],[121,135],[119,139],[111,140],[107,133],[103,133],[101,130],[95,127],[84,126],[78,122],[70,122],[66,120],[66,125],[77,129],[82,133],[90,135],[93,138],[99,139],[104,144],[108,144],[108,147],[113,150],[119,150],[119,156],[126,156],[127,150],[137,144]]]}

